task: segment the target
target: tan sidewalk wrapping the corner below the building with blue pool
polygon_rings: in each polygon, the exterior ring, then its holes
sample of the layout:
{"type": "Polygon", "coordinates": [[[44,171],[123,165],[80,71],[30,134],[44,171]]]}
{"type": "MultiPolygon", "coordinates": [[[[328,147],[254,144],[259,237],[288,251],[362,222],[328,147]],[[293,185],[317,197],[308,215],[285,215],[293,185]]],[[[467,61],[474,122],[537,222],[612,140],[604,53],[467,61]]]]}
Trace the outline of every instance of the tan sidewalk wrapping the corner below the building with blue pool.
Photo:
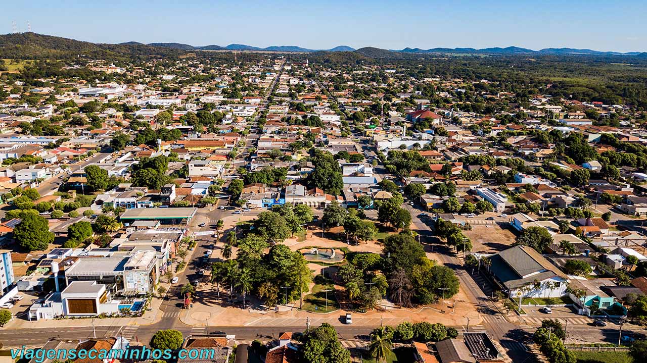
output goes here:
{"type": "Polygon", "coordinates": [[[65,319],[51,319],[28,321],[21,318],[14,318],[11,322],[4,326],[5,329],[30,329],[30,328],[43,328],[43,327],[86,327],[91,326],[94,320],[94,326],[125,326],[137,325],[144,326],[155,324],[162,320],[163,311],[160,311],[162,300],[153,298],[149,308],[151,311],[144,311],[144,315],[138,318],[65,318],[65,319]]]}

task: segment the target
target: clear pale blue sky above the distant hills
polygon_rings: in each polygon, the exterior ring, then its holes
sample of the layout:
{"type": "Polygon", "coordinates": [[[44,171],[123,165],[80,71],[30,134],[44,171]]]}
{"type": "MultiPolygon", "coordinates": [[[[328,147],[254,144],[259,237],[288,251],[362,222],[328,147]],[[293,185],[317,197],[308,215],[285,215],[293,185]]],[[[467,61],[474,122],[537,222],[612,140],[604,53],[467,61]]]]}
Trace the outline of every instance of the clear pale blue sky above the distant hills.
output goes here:
{"type": "Polygon", "coordinates": [[[548,47],[647,51],[644,0],[6,1],[0,34],[257,47],[548,47]]]}

